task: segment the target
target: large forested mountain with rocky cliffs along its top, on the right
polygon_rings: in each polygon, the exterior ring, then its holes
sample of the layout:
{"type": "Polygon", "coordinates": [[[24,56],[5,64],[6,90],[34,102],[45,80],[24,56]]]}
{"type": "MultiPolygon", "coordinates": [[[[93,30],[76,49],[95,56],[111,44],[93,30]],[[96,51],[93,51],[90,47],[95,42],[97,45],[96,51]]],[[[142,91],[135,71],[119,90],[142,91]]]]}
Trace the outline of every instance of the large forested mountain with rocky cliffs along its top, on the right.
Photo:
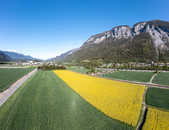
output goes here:
{"type": "Polygon", "coordinates": [[[91,36],[79,49],[55,61],[103,59],[106,62],[169,61],[169,22],[153,20],[121,25],[91,36]]]}

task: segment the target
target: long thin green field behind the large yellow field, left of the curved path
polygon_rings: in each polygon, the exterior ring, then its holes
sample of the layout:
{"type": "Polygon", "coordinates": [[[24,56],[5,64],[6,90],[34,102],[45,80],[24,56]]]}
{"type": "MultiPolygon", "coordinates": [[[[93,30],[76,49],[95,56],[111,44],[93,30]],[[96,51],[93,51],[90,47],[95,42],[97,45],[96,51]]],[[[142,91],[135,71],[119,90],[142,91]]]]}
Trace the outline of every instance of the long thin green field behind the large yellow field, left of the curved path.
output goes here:
{"type": "Polygon", "coordinates": [[[153,74],[153,72],[118,71],[114,73],[104,74],[103,77],[138,82],[149,82],[153,74]]]}

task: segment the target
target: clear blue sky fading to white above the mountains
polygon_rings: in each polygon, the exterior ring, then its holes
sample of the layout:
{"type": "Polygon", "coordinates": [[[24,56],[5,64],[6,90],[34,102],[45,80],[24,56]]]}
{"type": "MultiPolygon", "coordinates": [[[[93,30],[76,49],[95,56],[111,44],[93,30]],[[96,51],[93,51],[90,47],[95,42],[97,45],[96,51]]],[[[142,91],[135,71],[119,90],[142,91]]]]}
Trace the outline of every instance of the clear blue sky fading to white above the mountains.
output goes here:
{"type": "Polygon", "coordinates": [[[0,50],[51,58],[117,25],[169,21],[169,0],[0,0],[0,50]]]}

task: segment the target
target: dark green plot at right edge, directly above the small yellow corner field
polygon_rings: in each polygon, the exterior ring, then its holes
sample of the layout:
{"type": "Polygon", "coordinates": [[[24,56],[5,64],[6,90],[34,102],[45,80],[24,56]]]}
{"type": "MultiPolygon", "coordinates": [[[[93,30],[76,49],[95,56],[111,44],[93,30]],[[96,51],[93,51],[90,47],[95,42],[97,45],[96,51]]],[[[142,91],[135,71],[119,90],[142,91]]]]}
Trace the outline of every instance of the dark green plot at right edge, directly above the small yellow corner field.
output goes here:
{"type": "Polygon", "coordinates": [[[148,88],[146,103],[169,110],[169,89],[148,88]]]}

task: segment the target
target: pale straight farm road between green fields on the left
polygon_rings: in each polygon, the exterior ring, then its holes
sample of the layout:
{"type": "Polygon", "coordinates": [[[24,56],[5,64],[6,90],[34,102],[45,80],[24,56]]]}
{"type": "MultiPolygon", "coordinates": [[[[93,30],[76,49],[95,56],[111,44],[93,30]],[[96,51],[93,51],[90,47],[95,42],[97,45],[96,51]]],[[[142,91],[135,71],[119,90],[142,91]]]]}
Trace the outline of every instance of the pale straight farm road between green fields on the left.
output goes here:
{"type": "Polygon", "coordinates": [[[32,75],[37,72],[37,69],[34,69],[30,73],[26,74],[22,78],[18,79],[13,83],[8,89],[0,93],[0,107],[8,100],[8,98],[32,75]]]}

